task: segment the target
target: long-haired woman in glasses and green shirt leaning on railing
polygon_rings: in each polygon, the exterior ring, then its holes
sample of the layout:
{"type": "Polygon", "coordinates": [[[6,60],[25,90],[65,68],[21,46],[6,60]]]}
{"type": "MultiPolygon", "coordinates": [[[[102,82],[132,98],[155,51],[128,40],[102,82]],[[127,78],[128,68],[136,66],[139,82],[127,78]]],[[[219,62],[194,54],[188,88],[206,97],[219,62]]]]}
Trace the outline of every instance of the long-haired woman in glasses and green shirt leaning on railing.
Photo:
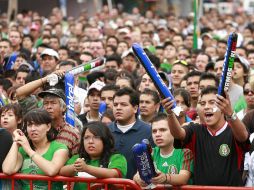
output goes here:
{"type": "MultiPolygon", "coordinates": [[[[84,126],[79,155],[73,156],[60,170],[60,175],[74,176],[86,172],[97,178],[122,178],[127,173],[125,157],[114,150],[114,138],[101,122],[84,126]]],[[[76,183],[74,189],[85,189],[85,183],[76,183]]]]}

